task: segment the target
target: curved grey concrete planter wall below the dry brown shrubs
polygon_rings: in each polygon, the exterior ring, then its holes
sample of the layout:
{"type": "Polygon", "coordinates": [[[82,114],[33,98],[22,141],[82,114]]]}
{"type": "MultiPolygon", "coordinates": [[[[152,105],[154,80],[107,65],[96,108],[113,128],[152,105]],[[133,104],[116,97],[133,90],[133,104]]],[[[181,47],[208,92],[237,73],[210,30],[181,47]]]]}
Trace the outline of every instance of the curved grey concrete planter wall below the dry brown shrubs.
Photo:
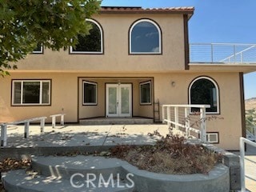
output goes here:
{"type": "Polygon", "coordinates": [[[132,178],[136,191],[155,192],[229,192],[229,168],[218,164],[209,174],[156,174],[137,167],[124,165],[127,173],[134,174],[132,178]]]}

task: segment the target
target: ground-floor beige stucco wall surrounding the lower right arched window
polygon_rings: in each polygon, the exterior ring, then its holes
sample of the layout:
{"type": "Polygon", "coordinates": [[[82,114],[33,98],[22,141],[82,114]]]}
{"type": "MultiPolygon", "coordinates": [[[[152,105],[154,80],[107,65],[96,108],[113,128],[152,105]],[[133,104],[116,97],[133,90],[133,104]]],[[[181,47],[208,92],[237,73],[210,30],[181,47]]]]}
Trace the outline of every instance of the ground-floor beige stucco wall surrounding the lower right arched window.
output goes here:
{"type": "Polygon", "coordinates": [[[154,77],[154,97],[161,104],[188,103],[188,87],[198,76],[213,78],[219,86],[220,114],[213,121],[207,121],[207,131],[218,131],[220,145],[227,150],[238,150],[242,136],[241,101],[238,73],[188,73],[159,74],[154,77]],[[171,86],[175,82],[175,86],[171,86]]]}

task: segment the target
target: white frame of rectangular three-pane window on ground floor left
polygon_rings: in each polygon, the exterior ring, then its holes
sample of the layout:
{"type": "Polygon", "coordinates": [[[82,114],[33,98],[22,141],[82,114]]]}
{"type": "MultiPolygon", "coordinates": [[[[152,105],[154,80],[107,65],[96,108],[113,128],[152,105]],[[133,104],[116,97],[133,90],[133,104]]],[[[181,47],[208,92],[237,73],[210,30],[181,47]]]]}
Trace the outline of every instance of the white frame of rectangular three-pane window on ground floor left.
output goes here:
{"type": "Polygon", "coordinates": [[[51,81],[50,80],[13,80],[12,81],[12,106],[50,106],[50,97],[51,96],[51,81]],[[15,82],[21,82],[21,103],[14,103],[14,83],[15,82]],[[22,103],[23,101],[23,83],[24,82],[40,82],[40,95],[39,95],[39,103],[22,103]],[[49,83],[49,102],[48,103],[42,103],[42,82],[48,82],[49,83]]]}

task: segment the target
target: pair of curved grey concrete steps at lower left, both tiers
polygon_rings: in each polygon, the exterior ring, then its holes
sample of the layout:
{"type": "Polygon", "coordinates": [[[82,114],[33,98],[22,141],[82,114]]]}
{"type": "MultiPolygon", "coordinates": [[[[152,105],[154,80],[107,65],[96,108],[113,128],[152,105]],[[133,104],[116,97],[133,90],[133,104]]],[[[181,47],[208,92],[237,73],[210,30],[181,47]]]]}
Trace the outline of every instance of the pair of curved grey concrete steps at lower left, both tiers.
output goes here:
{"type": "Polygon", "coordinates": [[[6,191],[133,191],[117,158],[96,156],[36,157],[32,171],[12,170],[2,177],[6,191]],[[87,182],[86,182],[87,181],[87,182]]]}

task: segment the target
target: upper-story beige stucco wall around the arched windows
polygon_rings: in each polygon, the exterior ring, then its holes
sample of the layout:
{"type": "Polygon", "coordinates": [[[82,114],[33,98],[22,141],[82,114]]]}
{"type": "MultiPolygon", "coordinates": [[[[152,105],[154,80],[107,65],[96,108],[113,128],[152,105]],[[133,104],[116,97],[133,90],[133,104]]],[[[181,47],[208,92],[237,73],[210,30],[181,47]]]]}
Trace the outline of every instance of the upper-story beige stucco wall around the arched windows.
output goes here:
{"type": "Polygon", "coordinates": [[[184,70],[182,14],[101,14],[94,16],[94,19],[102,26],[104,54],[44,50],[44,54],[30,54],[26,60],[18,62],[18,68],[86,72],[184,70]],[[160,26],[162,54],[129,54],[129,29],[139,18],[150,18],[160,26]]]}

